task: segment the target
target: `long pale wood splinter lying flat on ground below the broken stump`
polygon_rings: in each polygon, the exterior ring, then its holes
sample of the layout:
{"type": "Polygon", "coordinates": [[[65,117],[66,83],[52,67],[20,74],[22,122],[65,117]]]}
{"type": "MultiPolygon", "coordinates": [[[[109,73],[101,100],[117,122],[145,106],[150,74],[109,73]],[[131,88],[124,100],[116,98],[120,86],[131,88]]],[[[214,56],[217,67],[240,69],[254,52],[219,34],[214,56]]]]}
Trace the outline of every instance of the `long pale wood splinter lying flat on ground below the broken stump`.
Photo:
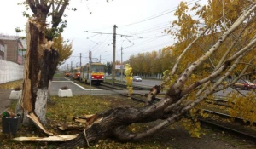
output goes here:
{"type": "Polygon", "coordinates": [[[78,136],[76,135],[56,135],[56,136],[49,136],[49,137],[17,137],[13,140],[15,141],[67,141],[73,140],[78,136]]]}

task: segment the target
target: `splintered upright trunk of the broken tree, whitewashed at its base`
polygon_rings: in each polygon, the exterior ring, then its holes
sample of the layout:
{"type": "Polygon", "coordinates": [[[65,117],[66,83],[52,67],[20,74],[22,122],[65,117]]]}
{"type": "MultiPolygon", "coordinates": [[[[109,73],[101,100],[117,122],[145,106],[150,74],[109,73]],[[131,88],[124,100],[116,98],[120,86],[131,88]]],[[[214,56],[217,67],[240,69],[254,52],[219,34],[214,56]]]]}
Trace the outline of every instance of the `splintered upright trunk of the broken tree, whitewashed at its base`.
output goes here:
{"type": "Polygon", "coordinates": [[[51,49],[53,42],[44,35],[45,26],[37,20],[28,20],[26,26],[26,62],[21,98],[16,112],[23,118],[23,124],[29,123],[26,115],[34,112],[41,123],[46,123],[46,103],[49,80],[52,80],[58,63],[59,54],[51,49]]]}

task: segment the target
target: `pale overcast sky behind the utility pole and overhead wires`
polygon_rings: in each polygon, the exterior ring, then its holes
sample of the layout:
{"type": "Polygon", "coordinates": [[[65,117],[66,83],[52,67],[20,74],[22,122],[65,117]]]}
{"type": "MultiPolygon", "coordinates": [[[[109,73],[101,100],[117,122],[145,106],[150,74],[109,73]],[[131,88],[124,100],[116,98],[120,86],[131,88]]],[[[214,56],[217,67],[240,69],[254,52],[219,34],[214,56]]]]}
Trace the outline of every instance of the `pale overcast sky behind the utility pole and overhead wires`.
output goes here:
{"type": "MultiPolygon", "coordinates": [[[[196,0],[185,0],[195,3],[196,0]]],[[[207,3],[207,0],[198,0],[207,3]]],[[[16,27],[25,29],[26,18],[22,16],[24,6],[18,6],[19,0],[0,1],[0,33],[5,35],[24,36],[17,34],[16,27]]],[[[73,40],[73,54],[66,62],[73,61],[73,66],[79,64],[79,54],[82,53],[82,64],[89,61],[89,50],[93,61],[103,63],[113,60],[113,25],[118,26],[117,33],[133,37],[117,36],[116,60],[123,61],[132,54],[151,52],[172,45],[174,39],[166,35],[165,28],[171,26],[175,19],[174,11],[181,0],[72,0],[67,10],[67,28],[63,32],[65,39],[73,40]],[[91,12],[91,14],[90,14],[91,12]],[[85,32],[90,31],[90,32],[85,32]],[[166,35],[166,36],[165,36],[166,35]],[[142,37],[142,38],[141,38],[142,37]]]]}

